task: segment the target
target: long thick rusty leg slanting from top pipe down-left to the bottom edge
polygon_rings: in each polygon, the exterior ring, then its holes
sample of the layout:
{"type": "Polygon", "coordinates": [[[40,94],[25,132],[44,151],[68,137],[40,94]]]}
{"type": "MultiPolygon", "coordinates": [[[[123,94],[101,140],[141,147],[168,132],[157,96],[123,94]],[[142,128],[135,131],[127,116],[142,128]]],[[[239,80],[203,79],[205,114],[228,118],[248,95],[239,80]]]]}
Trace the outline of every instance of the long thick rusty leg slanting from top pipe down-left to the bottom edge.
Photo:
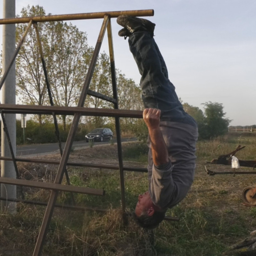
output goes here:
{"type": "MultiPolygon", "coordinates": [[[[99,37],[97,39],[95,50],[93,52],[93,57],[92,57],[90,66],[88,68],[88,73],[87,73],[87,76],[86,76],[86,79],[84,82],[84,87],[82,89],[81,96],[79,98],[78,107],[84,106],[84,101],[85,101],[85,98],[87,95],[89,84],[90,84],[92,76],[93,76],[94,67],[96,65],[97,57],[98,57],[98,54],[99,54],[99,51],[100,51],[100,48],[102,45],[102,40],[104,38],[104,34],[106,31],[106,26],[107,26],[108,22],[109,22],[109,18],[107,16],[105,16],[103,23],[102,23],[102,28],[99,33],[99,37]]],[[[72,146],[72,142],[75,137],[75,132],[77,131],[80,116],[81,115],[79,113],[76,113],[74,116],[73,123],[71,125],[69,135],[67,137],[66,146],[65,146],[63,154],[62,154],[62,159],[61,159],[54,183],[61,183],[61,181],[62,181],[62,177],[64,174],[64,168],[66,168],[66,163],[67,163],[70,151],[71,151],[71,146],[72,146]]],[[[37,238],[33,256],[40,256],[42,253],[44,239],[46,237],[47,230],[48,230],[48,227],[49,227],[52,215],[53,215],[53,209],[54,209],[54,205],[57,200],[57,194],[58,194],[57,191],[52,191],[52,193],[50,195],[48,206],[47,206],[45,214],[44,214],[44,220],[41,225],[40,233],[37,238]]]]}

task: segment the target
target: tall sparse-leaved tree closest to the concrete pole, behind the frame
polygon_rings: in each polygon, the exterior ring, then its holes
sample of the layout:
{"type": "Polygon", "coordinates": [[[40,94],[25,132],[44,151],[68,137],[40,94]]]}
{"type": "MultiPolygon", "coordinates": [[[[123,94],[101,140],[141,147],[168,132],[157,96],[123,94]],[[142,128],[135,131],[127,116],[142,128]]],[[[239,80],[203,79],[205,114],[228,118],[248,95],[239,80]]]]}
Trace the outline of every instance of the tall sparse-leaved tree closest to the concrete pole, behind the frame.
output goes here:
{"type": "MultiPolygon", "coordinates": [[[[21,16],[41,16],[45,15],[43,7],[40,6],[30,6],[22,8],[21,16]]],[[[16,42],[20,41],[24,31],[26,30],[27,24],[17,24],[16,26],[16,42]]],[[[38,24],[38,28],[41,31],[42,44],[47,44],[49,39],[49,24],[46,22],[41,22],[38,24]]],[[[47,88],[44,79],[44,71],[41,64],[40,52],[37,46],[36,34],[33,29],[31,29],[26,36],[26,40],[20,49],[20,54],[16,58],[16,85],[17,94],[19,100],[23,104],[29,105],[44,105],[45,94],[47,93],[47,88]]],[[[53,62],[49,58],[50,54],[46,54],[45,61],[48,63],[49,77],[51,77],[51,71],[54,70],[52,67],[53,62]]],[[[42,116],[38,115],[38,121],[42,124],[42,116]]]]}

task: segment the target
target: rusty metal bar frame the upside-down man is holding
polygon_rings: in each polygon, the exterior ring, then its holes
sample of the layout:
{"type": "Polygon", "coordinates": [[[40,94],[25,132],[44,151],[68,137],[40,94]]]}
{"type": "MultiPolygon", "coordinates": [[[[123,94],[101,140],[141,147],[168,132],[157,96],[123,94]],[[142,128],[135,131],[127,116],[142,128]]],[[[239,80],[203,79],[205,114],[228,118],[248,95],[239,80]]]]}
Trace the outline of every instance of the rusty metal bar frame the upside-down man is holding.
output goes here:
{"type": "MultiPolygon", "coordinates": [[[[44,188],[51,190],[51,195],[49,197],[49,202],[34,202],[30,200],[24,199],[6,199],[1,198],[0,200],[9,200],[12,202],[24,202],[24,203],[31,203],[31,204],[38,204],[38,205],[45,205],[46,211],[44,214],[44,219],[41,225],[40,233],[37,238],[37,242],[35,245],[35,250],[33,256],[39,256],[42,253],[44,240],[47,234],[47,230],[49,227],[49,223],[51,221],[53,215],[54,207],[63,207],[67,209],[75,209],[78,211],[86,211],[86,210],[93,210],[93,211],[101,211],[104,212],[103,209],[97,208],[89,208],[89,207],[78,207],[74,205],[59,205],[56,203],[58,191],[68,191],[71,193],[82,193],[82,194],[93,194],[93,195],[104,195],[104,190],[101,189],[92,189],[92,188],[84,188],[84,187],[77,187],[71,186],[69,176],[66,170],[66,166],[79,166],[79,167],[90,167],[90,168],[105,168],[110,170],[119,170],[120,175],[120,187],[121,187],[121,202],[122,202],[122,217],[124,224],[127,224],[128,218],[126,213],[126,204],[125,204],[125,189],[124,189],[124,171],[135,171],[135,172],[147,172],[146,168],[130,168],[124,167],[123,159],[122,159],[122,145],[121,145],[121,134],[120,134],[120,124],[119,118],[142,118],[142,111],[139,110],[119,110],[118,106],[118,95],[117,95],[117,85],[116,85],[116,75],[115,75],[115,58],[114,58],[114,48],[113,48],[113,40],[112,40],[112,29],[111,29],[111,18],[117,18],[119,15],[131,15],[131,16],[153,16],[154,10],[132,10],[132,11],[115,11],[115,12],[101,12],[101,13],[78,13],[78,14],[65,14],[65,15],[48,15],[48,16],[40,16],[40,17],[25,17],[25,18],[6,18],[0,19],[0,24],[14,24],[14,23],[29,23],[26,31],[24,32],[22,39],[20,40],[17,49],[15,50],[12,59],[9,62],[9,65],[4,72],[4,75],[0,81],[0,89],[2,88],[4,81],[10,71],[15,58],[17,57],[19,50],[22,47],[23,42],[26,39],[26,35],[28,31],[31,29],[32,25],[35,28],[38,47],[40,50],[40,57],[42,61],[42,66],[44,70],[45,81],[48,89],[49,94],[49,101],[51,106],[28,106],[28,105],[11,105],[11,104],[1,104],[0,103],[0,114],[2,117],[2,122],[4,125],[5,135],[7,136],[9,142],[9,148],[11,151],[12,157],[0,157],[0,160],[5,161],[13,161],[17,179],[10,179],[10,178],[0,178],[0,183],[3,184],[11,184],[11,185],[20,185],[20,186],[30,186],[36,188],[44,188]],[[99,32],[99,36],[97,39],[97,43],[94,49],[93,57],[90,62],[88,73],[86,75],[86,79],[84,81],[84,86],[82,88],[78,105],[76,107],[60,107],[60,106],[53,106],[53,98],[51,95],[51,88],[49,84],[49,79],[47,75],[47,68],[44,61],[44,53],[41,45],[40,40],[40,31],[38,30],[37,23],[38,22],[53,22],[53,21],[66,21],[66,20],[80,20],[80,19],[103,19],[102,27],[99,32]],[[107,97],[97,92],[93,92],[89,90],[89,85],[93,76],[94,67],[97,62],[97,57],[100,52],[100,48],[102,45],[102,41],[107,30],[108,36],[108,45],[109,45],[109,53],[110,53],[110,68],[111,68],[111,78],[112,78],[112,88],[113,88],[113,97],[107,97]],[[94,97],[101,98],[108,102],[112,102],[114,105],[114,109],[96,109],[96,108],[84,108],[84,102],[87,95],[91,95],[94,97]],[[10,142],[8,128],[6,123],[4,122],[4,114],[45,114],[45,115],[53,115],[53,121],[55,125],[55,133],[58,139],[61,160],[54,161],[54,160],[41,160],[41,159],[26,159],[26,158],[16,158],[13,153],[13,147],[10,142]],[[59,129],[57,124],[56,115],[73,115],[73,122],[66,140],[66,146],[64,150],[62,150],[61,140],[59,136],[59,129]],[[117,147],[118,147],[118,160],[119,165],[104,165],[104,164],[91,164],[91,163],[72,163],[68,162],[69,155],[71,153],[72,143],[74,141],[75,132],[77,131],[78,124],[80,117],[83,115],[87,116],[107,116],[107,117],[115,117],[115,130],[116,130],[116,137],[117,137],[117,147]],[[17,162],[29,162],[29,163],[50,163],[59,165],[56,178],[54,183],[47,183],[47,182],[37,182],[37,181],[26,181],[21,180],[20,174],[17,168],[17,162]],[[65,173],[67,184],[62,185],[62,178],[65,173]]],[[[72,195],[72,194],[71,194],[72,195]]],[[[73,204],[75,204],[74,197],[71,196],[73,204]]],[[[175,217],[167,217],[167,220],[177,221],[178,219],[175,217]]]]}

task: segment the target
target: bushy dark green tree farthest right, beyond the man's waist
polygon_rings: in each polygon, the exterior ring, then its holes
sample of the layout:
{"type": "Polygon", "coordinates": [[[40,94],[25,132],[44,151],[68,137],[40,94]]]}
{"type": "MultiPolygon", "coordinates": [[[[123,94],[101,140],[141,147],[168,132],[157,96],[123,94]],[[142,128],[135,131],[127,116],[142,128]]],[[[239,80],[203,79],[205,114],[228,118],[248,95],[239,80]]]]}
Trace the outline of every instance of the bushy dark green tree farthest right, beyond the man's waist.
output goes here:
{"type": "Polygon", "coordinates": [[[205,102],[202,104],[205,115],[206,138],[214,138],[228,132],[230,119],[225,118],[221,103],[205,102]]]}

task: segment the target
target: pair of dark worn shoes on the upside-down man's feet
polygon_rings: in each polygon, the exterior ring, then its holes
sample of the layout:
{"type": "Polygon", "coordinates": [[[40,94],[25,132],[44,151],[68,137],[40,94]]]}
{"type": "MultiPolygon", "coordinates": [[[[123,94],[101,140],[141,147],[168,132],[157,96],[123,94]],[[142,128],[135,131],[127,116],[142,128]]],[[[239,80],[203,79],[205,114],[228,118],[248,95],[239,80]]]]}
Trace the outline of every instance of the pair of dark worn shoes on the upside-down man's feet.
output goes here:
{"type": "MultiPolygon", "coordinates": [[[[149,20],[146,19],[141,19],[133,16],[128,16],[128,15],[120,15],[117,19],[116,22],[120,25],[123,26],[127,31],[129,32],[127,36],[131,35],[133,32],[136,31],[147,31],[150,33],[150,36],[154,36],[154,27],[155,24],[150,22],[149,20]]],[[[121,29],[118,33],[120,36],[125,36],[124,35],[124,30],[121,29]],[[121,34],[121,35],[120,35],[121,34]]]]}

